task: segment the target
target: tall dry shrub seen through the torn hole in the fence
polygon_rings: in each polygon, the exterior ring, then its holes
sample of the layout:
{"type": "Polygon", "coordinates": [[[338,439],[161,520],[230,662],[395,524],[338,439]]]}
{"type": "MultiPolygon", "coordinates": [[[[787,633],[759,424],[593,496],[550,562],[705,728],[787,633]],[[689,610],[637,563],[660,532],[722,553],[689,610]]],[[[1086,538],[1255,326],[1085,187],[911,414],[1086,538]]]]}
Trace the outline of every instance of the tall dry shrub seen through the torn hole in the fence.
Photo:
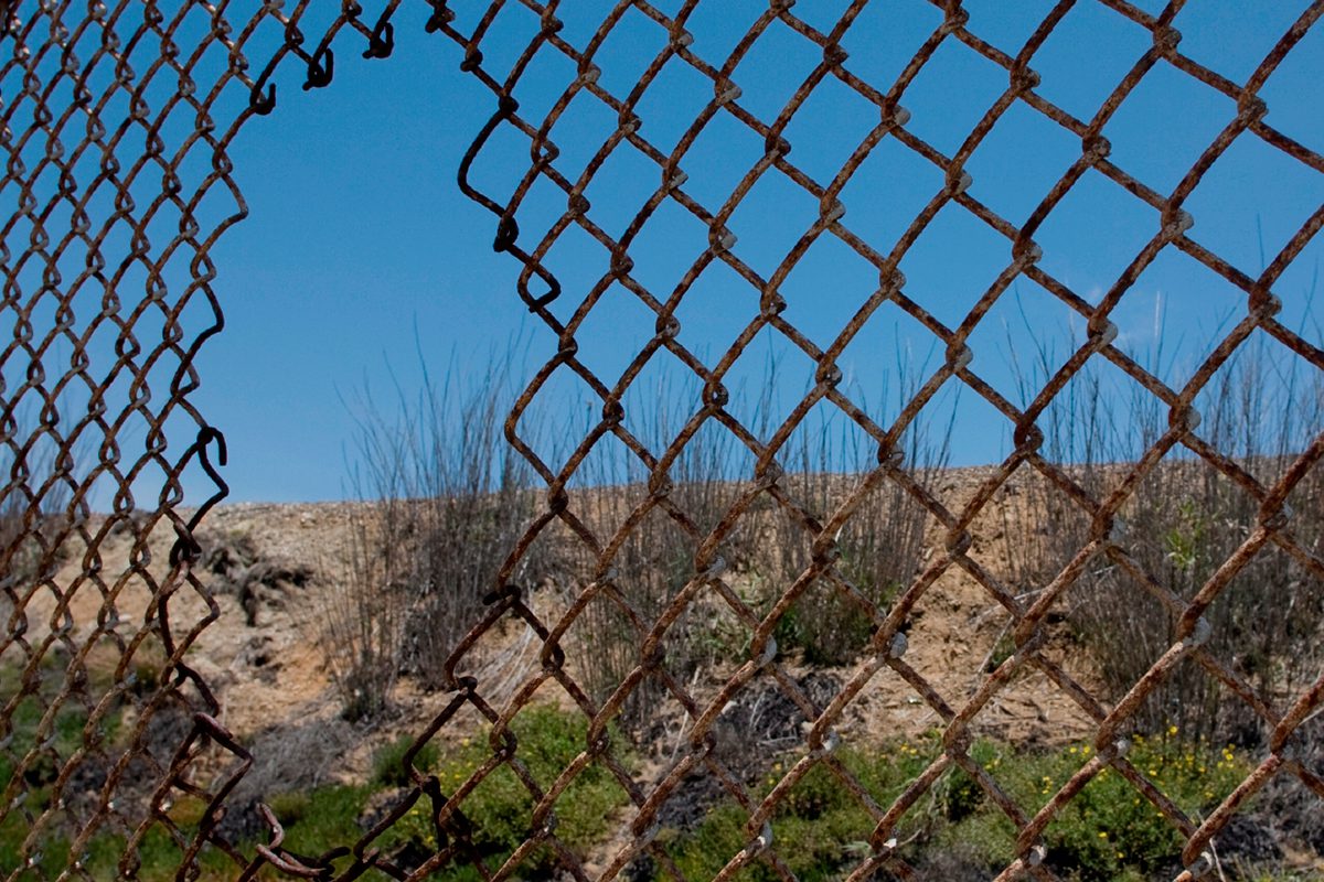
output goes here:
{"type": "MultiPolygon", "coordinates": [[[[502,436],[510,362],[493,357],[467,387],[425,376],[417,403],[401,395],[399,418],[369,407],[360,421],[354,485],[367,504],[323,610],[323,647],[351,718],[384,707],[400,672],[451,685],[446,659],[528,524],[531,469],[502,436]]],[[[511,578],[530,571],[526,558],[511,578]]]]}

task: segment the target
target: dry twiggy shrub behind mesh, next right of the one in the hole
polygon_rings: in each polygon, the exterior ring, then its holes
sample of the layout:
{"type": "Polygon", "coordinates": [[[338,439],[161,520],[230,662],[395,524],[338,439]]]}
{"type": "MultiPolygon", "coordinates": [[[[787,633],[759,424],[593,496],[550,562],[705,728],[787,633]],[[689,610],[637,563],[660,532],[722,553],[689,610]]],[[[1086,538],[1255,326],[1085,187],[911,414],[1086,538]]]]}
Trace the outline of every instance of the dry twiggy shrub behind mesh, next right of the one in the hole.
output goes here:
{"type": "MultiPolygon", "coordinates": [[[[654,455],[662,455],[696,389],[659,386],[658,407],[632,422],[632,432],[654,455]]],[[[604,701],[642,661],[639,648],[653,624],[677,595],[699,577],[699,553],[741,492],[735,480],[736,439],[708,422],[677,454],[667,469],[671,487],[654,505],[647,489],[650,468],[624,447],[602,444],[580,468],[577,510],[597,537],[601,553],[567,537],[548,575],[571,596],[596,594],[577,623],[571,647],[594,701],[604,701]],[[647,508],[645,513],[641,510],[647,508]],[[628,528],[628,529],[626,529],[628,528]],[[624,532],[622,532],[624,530],[624,532]]],[[[737,522],[716,537],[716,554],[731,570],[752,558],[752,532],[737,522]]],[[[662,669],[686,685],[694,674],[730,659],[741,641],[740,627],[726,603],[702,586],[666,632],[662,669]]],[[[669,688],[650,673],[622,706],[622,725],[637,731],[657,714],[669,688]]]]}

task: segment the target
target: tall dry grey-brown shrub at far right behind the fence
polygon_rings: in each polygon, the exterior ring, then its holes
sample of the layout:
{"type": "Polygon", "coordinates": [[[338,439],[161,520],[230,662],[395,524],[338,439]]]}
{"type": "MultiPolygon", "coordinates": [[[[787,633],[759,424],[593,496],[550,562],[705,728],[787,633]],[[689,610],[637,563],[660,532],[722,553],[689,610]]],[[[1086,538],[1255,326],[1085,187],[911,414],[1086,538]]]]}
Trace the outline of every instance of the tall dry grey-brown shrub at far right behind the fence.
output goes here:
{"type": "MultiPolygon", "coordinates": [[[[1041,352],[1042,364],[1049,358],[1041,352]]],[[[1151,356],[1157,361],[1157,353],[1151,356]]],[[[1041,372],[1042,373],[1042,372],[1041,372]]],[[[1243,344],[1196,402],[1198,435],[1237,468],[1270,487],[1320,431],[1324,385],[1313,369],[1260,340],[1243,344]]],[[[1132,463],[1168,430],[1168,409],[1135,385],[1119,387],[1086,372],[1045,421],[1047,459],[1102,500],[1132,463]]],[[[1043,481],[1029,484],[1029,510],[1041,529],[1010,542],[1019,555],[1012,579],[1035,591],[1088,542],[1090,518],[1043,481]]],[[[1296,542],[1324,547],[1324,475],[1315,469],[1290,497],[1296,542]]],[[[1182,600],[1193,598],[1259,526],[1260,505],[1233,477],[1177,448],[1133,489],[1113,534],[1120,551],[1095,555],[1068,592],[1070,620],[1091,651],[1108,697],[1124,696],[1176,641],[1177,615],[1147,591],[1152,579],[1182,600]]],[[[1324,661],[1324,584],[1270,542],[1222,590],[1205,618],[1209,651],[1260,696],[1296,694],[1324,661]]],[[[1136,725],[1178,726],[1184,737],[1256,744],[1263,722],[1194,660],[1165,678],[1136,725]]]]}

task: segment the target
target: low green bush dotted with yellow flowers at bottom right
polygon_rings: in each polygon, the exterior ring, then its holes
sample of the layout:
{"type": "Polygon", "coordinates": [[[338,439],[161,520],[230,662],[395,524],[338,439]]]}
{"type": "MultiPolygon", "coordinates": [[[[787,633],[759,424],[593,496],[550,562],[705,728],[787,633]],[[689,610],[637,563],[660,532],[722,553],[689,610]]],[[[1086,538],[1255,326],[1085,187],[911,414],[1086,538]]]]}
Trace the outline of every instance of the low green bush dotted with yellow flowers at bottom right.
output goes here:
{"type": "MultiPolygon", "coordinates": [[[[876,750],[843,747],[835,756],[879,805],[887,807],[940,750],[937,738],[928,737],[876,750]]],[[[1086,744],[1050,752],[1016,752],[993,742],[976,742],[970,748],[970,758],[1027,815],[1039,811],[1090,754],[1086,744]]],[[[1231,746],[1215,750],[1184,742],[1176,731],[1137,737],[1128,758],[1189,816],[1207,813],[1250,771],[1231,746]]],[[[773,764],[755,796],[767,796],[790,762],[788,758],[773,764]]],[[[747,819],[739,805],[726,801],[694,829],[665,830],[659,841],[687,879],[711,878],[748,844],[747,819]]],[[[874,821],[841,779],[818,764],[777,807],[772,829],[775,850],[797,878],[826,882],[859,861],[874,821]]],[[[1012,821],[959,767],[939,779],[932,797],[911,808],[896,836],[902,841],[915,837],[908,850],[920,863],[959,846],[996,874],[1016,857],[1012,821]]],[[[1172,824],[1112,768],[1099,772],[1059,812],[1043,840],[1051,866],[1080,882],[1152,878],[1166,870],[1181,850],[1181,837],[1172,824]]],[[[763,882],[777,875],[767,863],[755,862],[739,878],[763,882]]]]}

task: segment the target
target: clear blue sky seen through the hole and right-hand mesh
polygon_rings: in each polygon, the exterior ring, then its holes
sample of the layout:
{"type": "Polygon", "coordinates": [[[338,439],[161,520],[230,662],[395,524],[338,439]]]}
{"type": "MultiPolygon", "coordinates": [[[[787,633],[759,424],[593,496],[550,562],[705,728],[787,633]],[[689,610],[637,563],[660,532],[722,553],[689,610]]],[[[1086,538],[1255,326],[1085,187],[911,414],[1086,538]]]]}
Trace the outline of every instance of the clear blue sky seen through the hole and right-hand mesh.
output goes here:
{"type": "MultiPolygon", "coordinates": [[[[455,5],[467,26],[471,15],[466,17],[465,9],[487,4],[455,5]]],[[[576,0],[563,5],[583,16],[567,13],[565,29],[568,40],[583,45],[591,25],[613,4],[576,0]]],[[[678,5],[659,4],[666,11],[678,5]]],[[[843,0],[801,0],[793,11],[826,29],[845,5],[843,0]]],[[[1009,54],[1016,54],[1051,7],[1030,0],[965,5],[969,28],[1009,54]]],[[[1139,5],[1153,12],[1161,7],[1153,0],[1139,5]]],[[[1305,0],[1190,3],[1176,20],[1184,34],[1181,49],[1243,82],[1305,5],[1305,0]]],[[[532,25],[532,16],[518,4],[507,8],[483,45],[495,69],[523,48],[532,25]]],[[[765,1],[755,0],[700,4],[690,22],[694,49],[720,65],[736,36],[765,8],[765,1]]],[[[352,41],[338,45],[330,89],[301,91],[302,71],[283,71],[277,111],[252,120],[232,149],[252,216],[212,251],[226,329],[203,348],[197,362],[203,385],[193,395],[229,440],[225,477],[232,500],[342,497],[346,452],[355,435],[354,407],[346,402],[364,389],[387,401],[395,395],[395,382],[412,394],[421,378],[417,349],[434,372],[451,364],[478,369],[493,348],[514,337],[523,340],[528,353],[524,369],[555,350],[552,335],[515,295],[518,263],[491,250],[494,217],[455,186],[459,157],[490,115],[493,97],[457,70],[455,45],[424,33],[424,15],[422,8],[401,8],[389,60],[364,61],[352,41]]],[[[922,0],[879,0],[843,41],[850,52],[846,67],[886,90],[939,21],[939,12],[922,0]]],[[[604,85],[624,95],[662,40],[657,25],[629,13],[621,33],[600,53],[604,85]]],[[[1082,0],[1031,62],[1042,75],[1039,93],[1088,119],[1148,45],[1145,30],[1096,0],[1082,0]]],[[[741,104],[772,119],[817,61],[802,38],[775,25],[775,33],[736,70],[741,104]]],[[[526,108],[545,107],[567,75],[573,75],[568,65],[548,62],[522,95],[526,108]]],[[[1270,107],[1267,122],[1316,151],[1324,151],[1321,75],[1324,26],[1316,26],[1262,91],[1270,107]]],[[[997,66],[948,41],[902,100],[911,112],[908,128],[951,155],[1005,85],[1006,75],[997,66]]],[[[673,61],[651,91],[639,106],[641,134],[667,149],[711,89],[673,61]],[[667,89],[677,90],[671,104],[670,97],[663,99],[667,89]]],[[[874,124],[869,110],[839,82],[821,86],[786,132],[792,161],[826,182],[874,124]]],[[[1234,115],[1230,100],[1160,63],[1106,130],[1112,160],[1168,192],[1234,115]]],[[[561,145],[559,164],[576,171],[583,165],[605,135],[604,116],[591,102],[572,104],[553,131],[561,145]]],[[[682,165],[690,176],[687,190],[715,206],[756,161],[761,141],[731,118],[711,128],[682,165]]],[[[1075,138],[1018,104],[968,164],[970,192],[1018,223],[1079,149],[1075,138]]],[[[475,179],[498,193],[508,192],[511,175],[526,167],[507,171],[503,157],[527,163],[527,141],[499,138],[475,167],[475,179]]],[[[593,216],[608,231],[620,231],[658,177],[655,165],[622,148],[588,192],[593,216]]],[[[941,185],[933,165],[888,138],[845,190],[845,223],[887,251],[941,185]]],[[[1321,201],[1324,176],[1243,136],[1188,202],[1196,218],[1190,235],[1258,275],[1262,261],[1272,259],[1321,201]]],[[[655,229],[632,249],[636,276],[662,298],[704,246],[702,226],[675,208],[662,212],[655,229]]],[[[564,194],[535,200],[530,209],[526,217],[555,216],[564,210],[564,194]]],[[[802,190],[785,179],[768,177],[732,218],[736,254],[771,271],[816,210],[802,190]]],[[[1045,250],[1042,266],[1078,294],[1098,299],[1157,222],[1152,209],[1091,172],[1037,235],[1045,250]]],[[[540,230],[527,221],[523,229],[520,245],[531,247],[540,230]]],[[[1279,286],[1290,325],[1307,317],[1319,254],[1316,241],[1279,286]]],[[[902,268],[908,295],[955,327],[1008,261],[1006,241],[952,205],[916,242],[902,268]]],[[[548,263],[565,284],[555,307],[564,317],[605,270],[605,253],[587,237],[568,234],[548,263]]],[[[875,286],[876,272],[867,263],[825,238],[782,287],[786,316],[826,345],[875,286]]],[[[970,341],[974,370],[1013,399],[1009,350],[1023,357],[1029,345],[1019,309],[1054,339],[1072,336],[1064,307],[1023,279],[1018,290],[1021,307],[1005,298],[970,341]]],[[[1165,378],[1180,382],[1182,372],[1189,374],[1194,360],[1211,348],[1219,324],[1243,309],[1238,291],[1194,261],[1169,253],[1127,295],[1115,321],[1121,341],[1137,349],[1151,348],[1156,323],[1164,325],[1169,335],[1165,378]]],[[[681,340],[715,361],[756,312],[757,295],[749,286],[726,270],[710,270],[679,309],[681,340]]],[[[1080,325],[1076,317],[1075,339],[1080,325]]],[[[588,320],[580,353],[610,381],[651,333],[653,316],[632,295],[613,288],[588,320]]],[[[1308,336],[1320,342],[1315,332],[1308,336]]],[[[769,352],[779,356],[779,383],[802,391],[812,364],[776,342],[756,346],[737,365],[732,385],[757,383],[769,352]]],[[[932,336],[886,304],[841,364],[847,381],[873,399],[884,386],[895,391],[898,361],[915,380],[940,358],[932,336]]],[[[661,376],[678,362],[659,365],[661,376]]],[[[555,410],[584,411],[583,391],[573,385],[557,386],[553,395],[563,395],[555,410]]],[[[642,406],[646,398],[637,401],[642,406]]],[[[732,410],[748,414],[751,406],[736,401],[732,410]]],[[[886,410],[895,411],[895,405],[886,410]]],[[[581,417],[575,421],[581,423],[581,417]]],[[[963,395],[957,426],[957,463],[992,461],[1008,450],[1006,421],[973,394],[963,395]]],[[[205,483],[189,481],[191,501],[199,501],[203,488],[205,483]]]]}

